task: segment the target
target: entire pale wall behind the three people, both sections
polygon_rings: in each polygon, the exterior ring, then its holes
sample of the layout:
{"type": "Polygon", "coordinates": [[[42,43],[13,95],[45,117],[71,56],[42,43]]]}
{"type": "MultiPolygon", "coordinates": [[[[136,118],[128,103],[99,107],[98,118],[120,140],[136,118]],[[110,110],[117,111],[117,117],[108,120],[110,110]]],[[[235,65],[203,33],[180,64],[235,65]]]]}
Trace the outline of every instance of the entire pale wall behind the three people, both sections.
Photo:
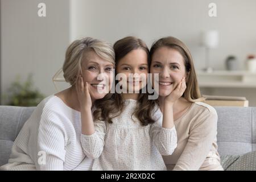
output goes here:
{"type": "MultiPolygon", "coordinates": [[[[249,53],[256,53],[255,0],[0,0],[1,1],[1,90],[16,75],[34,73],[37,88],[55,93],[52,76],[64,61],[68,44],[92,36],[111,43],[127,35],[138,36],[150,47],[162,36],[175,36],[191,49],[197,69],[204,67],[200,32],[216,29],[220,44],[211,53],[211,64],[224,69],[233,54],[243,68],[249,53]],[[38,3],[47,6],[46,18],[37,15],[38,3]],[[208,16],[210,2],[217,4],[217,17],[208,16]]],[[[236,89],[219,92],[237,95],[236,89]]],[[[246,89],[244,96],[255,96],[246,89]]],[[[204,94],[207,94],[204,92],[204,94]]],[[[256,106],[256,101],[253,101],[256,106]]]]}

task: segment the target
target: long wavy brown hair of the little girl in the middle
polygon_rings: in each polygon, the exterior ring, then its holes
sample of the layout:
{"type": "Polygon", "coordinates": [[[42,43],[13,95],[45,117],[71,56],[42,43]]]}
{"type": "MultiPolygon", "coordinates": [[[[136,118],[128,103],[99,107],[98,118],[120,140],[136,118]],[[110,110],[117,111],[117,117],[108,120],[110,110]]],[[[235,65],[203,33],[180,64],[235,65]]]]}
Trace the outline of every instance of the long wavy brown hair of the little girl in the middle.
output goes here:
{"type": "MultiPolygon", "coordinates": [[[[149,50],[141,39],[128,36],[115,42],[113,47],[115,52],[115,67],[117,67],[119,60],[135,49],[143,49],[147,53],[147,63],[148,66],[150,65],[149,50]]],[[[155,122],[152,119],[152,112],[156,101],[148,100],[148,95],[148,93],[139,93],[137,107],[133,113],[143,126],[155,122]]],[[[108,121],[109,123],[112,123],[112,119],[120,115],[123,111],[123,100],[121,94],[118,93],[108,94],[103,99],[97,100],[94,104],[97,108],[93,113],[94,119],[108,121]],[[110,116],[110,114],[113,115],[110,116]]]]}

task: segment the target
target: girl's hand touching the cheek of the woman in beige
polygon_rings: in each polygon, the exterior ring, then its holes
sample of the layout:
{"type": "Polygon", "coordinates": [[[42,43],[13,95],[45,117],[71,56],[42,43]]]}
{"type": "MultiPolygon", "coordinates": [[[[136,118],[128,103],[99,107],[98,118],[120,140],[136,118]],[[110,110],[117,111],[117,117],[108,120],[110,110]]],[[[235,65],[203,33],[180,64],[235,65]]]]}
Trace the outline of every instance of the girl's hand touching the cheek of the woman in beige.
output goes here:
{"type": "Polygon", "coordinates": [[[176,86],[176,88],[169,94],[169,96],[164,98],[164,102],[174,104],[174,102],[183,95],[186,88],[187,86],[186,86],[185,78],[183,77],[182,80],[179,82],[179,84],[176,86]]]}

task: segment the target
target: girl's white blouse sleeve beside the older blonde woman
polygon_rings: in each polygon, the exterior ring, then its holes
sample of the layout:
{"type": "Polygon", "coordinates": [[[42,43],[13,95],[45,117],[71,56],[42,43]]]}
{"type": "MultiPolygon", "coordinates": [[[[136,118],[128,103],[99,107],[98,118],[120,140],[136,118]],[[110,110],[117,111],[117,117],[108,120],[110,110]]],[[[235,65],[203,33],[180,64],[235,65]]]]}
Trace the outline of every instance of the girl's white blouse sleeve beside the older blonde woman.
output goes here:
{"type": "Polygon", "coordinates": [[[100,157],[104,148],[106,133],[105,121],[97,120],[94,122],[95,132],[92,135],[81,134],[81,145],[84,153],[90,159],[100,157]]]}

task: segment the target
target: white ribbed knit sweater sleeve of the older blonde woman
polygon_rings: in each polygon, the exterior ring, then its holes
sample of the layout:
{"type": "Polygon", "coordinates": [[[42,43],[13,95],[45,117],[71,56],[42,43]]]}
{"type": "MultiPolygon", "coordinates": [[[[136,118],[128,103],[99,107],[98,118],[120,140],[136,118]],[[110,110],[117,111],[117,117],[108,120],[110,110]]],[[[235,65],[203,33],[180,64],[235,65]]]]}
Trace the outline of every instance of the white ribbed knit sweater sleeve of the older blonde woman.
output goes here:
{"type": "Polygon", "coordinates": [[[64,127],[55,114],[43,111],[38,129],[37,170],[62,171],[65,161],[64,127]]]}

